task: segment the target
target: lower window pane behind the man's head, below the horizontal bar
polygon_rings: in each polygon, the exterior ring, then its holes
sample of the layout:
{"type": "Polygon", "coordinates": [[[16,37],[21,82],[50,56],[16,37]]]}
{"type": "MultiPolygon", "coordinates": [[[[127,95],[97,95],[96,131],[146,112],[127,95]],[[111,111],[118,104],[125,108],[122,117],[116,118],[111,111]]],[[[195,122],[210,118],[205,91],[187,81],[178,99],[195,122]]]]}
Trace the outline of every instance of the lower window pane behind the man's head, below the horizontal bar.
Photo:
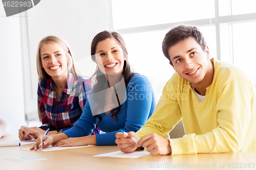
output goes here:
{"type": "MultiPolygon", "coordinates": [[[[216,58],[215,26],[199,28],[209,46],[211,56],[216,58]]],[[[134,71],[146,76],[155,91],[158,100],[162,89],[175,70],[169,65],[162,53],[162,41],[167,30],[144,33],[123,34],[128,50],[128,59],[134,71]]]]}

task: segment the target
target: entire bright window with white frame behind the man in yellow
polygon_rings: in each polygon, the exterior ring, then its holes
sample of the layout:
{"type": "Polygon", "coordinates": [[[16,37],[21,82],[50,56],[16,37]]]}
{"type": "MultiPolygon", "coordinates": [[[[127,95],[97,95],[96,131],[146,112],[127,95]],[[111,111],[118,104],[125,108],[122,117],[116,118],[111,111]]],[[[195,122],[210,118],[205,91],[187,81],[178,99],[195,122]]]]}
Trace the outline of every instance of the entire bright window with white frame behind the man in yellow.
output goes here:
{"type": "Polygon", "coordinates": [[[112,28],[122,34],[131,65],[151,81],[157,99],[174,73],[161,43],[169,28],[179,24],[197,26],[211,57],[240,65],[256,87],[256,56],[249,50],[256,39],[255,6],[254,0],[112,0],[112,28]]]}

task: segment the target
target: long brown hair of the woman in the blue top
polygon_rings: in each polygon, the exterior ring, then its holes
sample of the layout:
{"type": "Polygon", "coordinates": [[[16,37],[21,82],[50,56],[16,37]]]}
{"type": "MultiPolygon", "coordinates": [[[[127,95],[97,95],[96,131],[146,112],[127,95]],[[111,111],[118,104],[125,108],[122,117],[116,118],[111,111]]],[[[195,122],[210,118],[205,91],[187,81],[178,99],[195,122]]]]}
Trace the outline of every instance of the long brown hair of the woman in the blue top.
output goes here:
{"type": "MultiPolygon", "coordinates": [[[[96,53],[97,44],[100,41],[103,41],[103,40],[105,40],[107,38],[115,39],[118,42],[118,44],[122,47],[124,58],[125,58],[124,65],[123,65],[122,76],[123,76],[123,79],[124,79],[125,87],[127,87],[128,83],[130,82],[130,80],[132,79],[132,77],[134,76],[135,73],[133,72],[133,70],[132,70],[132,68],[130,66],[130,63],[128,61],[128,58],[127,58],[128,52],[127,52],[127,48],[125,46],[125,42],[124,42],[122,36],[119,33],[114,32],[114,31],[102,31],[102,32],[98,33],[93,38],[92,45],[91,45],[92,60],[94,62],[96,62],[95,53],[96,53]]],[[[94,92],[101,91],[102,90],[102,85],[104,85],[107,82],[107,80],[106,80],[104,74],[100,71],[100,69],[98,67],[96,68],[95,73],[92,75],[91,80],[93,78],[95,78],[94,92]]],[[[117,96],[117,100],[119,102],[118,96],[117,96]]],[[[97,102],[97,101],[95,101],[95,102],[97,102]]],[[[114,121],[115,121],[115,119],[113,117],[115,116],[115,118],[117,120],[117,116],[116,115],[120,112],[120,110],[121,110],[121,105],[119,105],[117,108],[112,109],[110,111],[111,114],[112,114],[111,118],[114,121]],[[115,111],[116,109],[117,109],[117,111],[115,111]]],[[[95,116],[97,118],[99,118],[99,121],[97,123],[97,125],[98,125],[99,122],[101,121],[102,117],[100,115],[95,115],[95,116]]]]}

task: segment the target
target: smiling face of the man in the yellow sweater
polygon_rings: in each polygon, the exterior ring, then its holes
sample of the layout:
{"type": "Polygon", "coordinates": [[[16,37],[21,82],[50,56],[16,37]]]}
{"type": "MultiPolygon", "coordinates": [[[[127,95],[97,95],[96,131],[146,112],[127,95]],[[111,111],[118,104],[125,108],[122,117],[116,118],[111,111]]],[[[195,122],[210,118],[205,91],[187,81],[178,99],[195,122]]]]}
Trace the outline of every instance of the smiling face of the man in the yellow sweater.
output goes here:
{"type": "MultiPolygon", "coordinates": [[[[168,49],[173,67],[183,79],[197,87],[208,87],[212,80],[213,67],[209,60],[208,46],[206,50],[193,38],[186,38],[168,49]]],[[[205,88],[206,88],[205,87],[205,88]]]]}

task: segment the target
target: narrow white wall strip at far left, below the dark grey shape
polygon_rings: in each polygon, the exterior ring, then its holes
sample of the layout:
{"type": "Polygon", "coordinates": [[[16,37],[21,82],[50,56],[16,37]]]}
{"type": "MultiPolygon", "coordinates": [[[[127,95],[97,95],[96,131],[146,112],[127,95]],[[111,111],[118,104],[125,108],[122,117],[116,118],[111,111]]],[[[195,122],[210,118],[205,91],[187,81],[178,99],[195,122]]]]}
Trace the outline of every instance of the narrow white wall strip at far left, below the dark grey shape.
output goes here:
{"type": "Polygon", "coordinates": [[[0,117],[17,133],[25,124],[19,17],[4,17],[0,5],[0,117]]]}

